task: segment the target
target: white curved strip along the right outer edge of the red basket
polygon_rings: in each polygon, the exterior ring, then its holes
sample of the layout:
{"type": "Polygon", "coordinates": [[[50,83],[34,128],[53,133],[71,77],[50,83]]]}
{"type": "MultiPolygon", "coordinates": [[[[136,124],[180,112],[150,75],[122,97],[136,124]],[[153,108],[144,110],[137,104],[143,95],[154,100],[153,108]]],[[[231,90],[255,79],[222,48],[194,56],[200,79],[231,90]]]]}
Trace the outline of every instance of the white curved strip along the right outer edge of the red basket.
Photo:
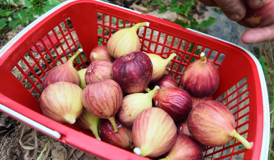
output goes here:
{"type": "Polygon", "coordinates": [[[264,119],[263,119],[263,131],[262,131],[262,148],[260,152],[260,159],[268,159],[269,155],[269,136],[270,136],[270,115],[269,115],[269,94],[267,92],[267,87],[266,87],[266,81],[264,77],[264,72],[262,71],[262,66],[258,59],[253,55],[251,52],[249,52],[247,49],[243,48],[242,46],[239,46],[238,44],[234,44],[232,42],[228,42],[227,40],[223,40],[221,38],[216,38],[214,36],[210,36],[208,34],[204,34],[203,32],[196,31],[194,29],[187,28],[190,31],[195,31],[199,34],[202,34],[203,36],[208,36],[210,38],[214,38],[216,40],[221,40],[223,42],[226,42],[228,44],[232,44],[239,49],[242,49],[245,51],[255,62],[256,68],[258,70],[259,78],[260,78],[260,84],[262,88],[262,103],[263,103],[263,113],[264,113],[264,119]]]}

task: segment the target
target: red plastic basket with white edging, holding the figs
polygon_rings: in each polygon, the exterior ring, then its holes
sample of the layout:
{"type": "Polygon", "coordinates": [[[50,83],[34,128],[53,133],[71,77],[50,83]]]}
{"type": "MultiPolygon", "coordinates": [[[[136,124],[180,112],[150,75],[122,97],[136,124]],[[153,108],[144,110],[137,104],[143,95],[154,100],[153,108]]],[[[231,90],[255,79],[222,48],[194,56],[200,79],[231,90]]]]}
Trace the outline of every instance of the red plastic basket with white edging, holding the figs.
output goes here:
{"type": "MultiPolygon", "coordinates": [[[[232,139],[223,147],[207,148],[204,159],[267,159],[269,100],[262,67],[256,57],[230,42],[103,1],[65,1],[28,25],[1,49],[1,111],[102,159],[147,159],[101,142],[76,124],[55,122],[42,115],[39,105],[42,77],[52,67],[69,59],[79,44],[89,57],[90,51],[98,45],[98,39],[106,44],[114,31],[140,22],[150,23],[149,27],[138,30],[142,51],[163,58],[177,53],[166,73],[173,75],[179,84],[184,67],[199,58],[202,51],[206,53],[220,73],[220,85],[214,99],[229,107],[236,119],[238,133],[253,142],[253,148],[247,150],[232,139]],[[100,21],[99,16],[102,16],[100,21]],[[57,46],[61,46],[59,51],[57,46]],[[21,68],[22,63],[27,67],[21,68]]],[[[75,68],[86,68],[89,62],[89,58],[79,55],[75,68]]]]}

